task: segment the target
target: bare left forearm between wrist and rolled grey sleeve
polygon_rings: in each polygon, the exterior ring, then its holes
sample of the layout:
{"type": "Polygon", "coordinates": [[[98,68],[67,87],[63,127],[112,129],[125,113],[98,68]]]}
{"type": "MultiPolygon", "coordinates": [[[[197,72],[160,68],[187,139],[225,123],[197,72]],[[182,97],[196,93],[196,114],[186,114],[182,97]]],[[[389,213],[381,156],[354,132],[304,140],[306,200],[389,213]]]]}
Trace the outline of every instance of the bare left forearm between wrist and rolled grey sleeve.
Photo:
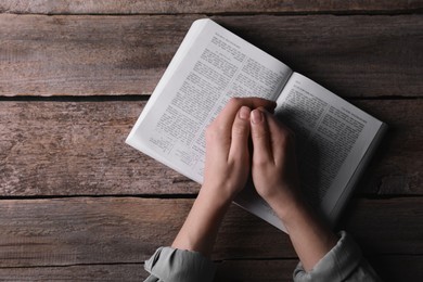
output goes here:
{"type": "Polygon", "coordinates": [[[231,200],[219,197],[203,187],[171,246],[210,256],[230,203],[231,200]]]}

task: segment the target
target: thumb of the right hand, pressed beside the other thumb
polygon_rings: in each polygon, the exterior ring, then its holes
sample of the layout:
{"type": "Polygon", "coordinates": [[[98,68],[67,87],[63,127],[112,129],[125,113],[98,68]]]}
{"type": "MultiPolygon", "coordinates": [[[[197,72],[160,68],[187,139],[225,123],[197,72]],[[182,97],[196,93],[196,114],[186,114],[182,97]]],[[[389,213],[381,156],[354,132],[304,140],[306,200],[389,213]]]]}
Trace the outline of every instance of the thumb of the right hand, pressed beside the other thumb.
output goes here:
{"type": "Polygon", "coordinates": [[[251,113],[251,131],[253,139],[253,164],[273,163],[273,153],[270,144],[270,132],[266,115],[256,108],[251,113]]]}

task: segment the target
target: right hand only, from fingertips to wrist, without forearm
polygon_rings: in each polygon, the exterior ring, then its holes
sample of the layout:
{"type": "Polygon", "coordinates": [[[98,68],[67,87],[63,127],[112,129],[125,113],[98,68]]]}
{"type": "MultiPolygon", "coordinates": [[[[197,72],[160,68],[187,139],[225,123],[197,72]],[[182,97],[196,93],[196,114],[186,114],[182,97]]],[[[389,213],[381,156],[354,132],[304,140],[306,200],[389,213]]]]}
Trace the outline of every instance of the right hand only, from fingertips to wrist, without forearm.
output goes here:
{"type": "Polygon", "coordinates": [[[251,124],[254,185],[283,220],[293,206],[303,203],[294,133],[262,108],[252,112],[251,124]]]}

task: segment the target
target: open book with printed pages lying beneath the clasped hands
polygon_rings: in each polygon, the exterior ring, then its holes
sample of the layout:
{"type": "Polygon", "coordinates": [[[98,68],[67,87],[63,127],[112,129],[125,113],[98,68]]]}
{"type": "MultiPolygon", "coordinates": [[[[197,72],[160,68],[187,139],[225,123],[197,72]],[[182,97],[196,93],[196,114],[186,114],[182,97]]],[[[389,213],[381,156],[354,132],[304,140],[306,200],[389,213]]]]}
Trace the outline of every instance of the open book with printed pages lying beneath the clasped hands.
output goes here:
{"type": "MultiPolygon", "coordinates": [[[[211,20],[192,24],[126,142],[202,183],[205,128],[232,97],[278,103],[302,188],[334,223],[386,125],[211,20]]],[[[253,185],[234,202],[286,232],[253,185]]]]}

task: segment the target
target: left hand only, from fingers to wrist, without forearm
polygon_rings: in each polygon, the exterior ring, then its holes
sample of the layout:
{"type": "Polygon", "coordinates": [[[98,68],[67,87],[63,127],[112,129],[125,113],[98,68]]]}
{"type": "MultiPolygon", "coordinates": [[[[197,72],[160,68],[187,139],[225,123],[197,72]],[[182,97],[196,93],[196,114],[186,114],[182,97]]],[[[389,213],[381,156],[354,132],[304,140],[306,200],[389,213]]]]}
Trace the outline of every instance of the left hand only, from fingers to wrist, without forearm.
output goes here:
{"type": "Polygon", "coordinates": [[[258,98],[231,99],[206,130],[206,163],[202,190],[231,202],[245,187],[251,156],[251,108],[273,112],[274,102],[258,98]]]}

